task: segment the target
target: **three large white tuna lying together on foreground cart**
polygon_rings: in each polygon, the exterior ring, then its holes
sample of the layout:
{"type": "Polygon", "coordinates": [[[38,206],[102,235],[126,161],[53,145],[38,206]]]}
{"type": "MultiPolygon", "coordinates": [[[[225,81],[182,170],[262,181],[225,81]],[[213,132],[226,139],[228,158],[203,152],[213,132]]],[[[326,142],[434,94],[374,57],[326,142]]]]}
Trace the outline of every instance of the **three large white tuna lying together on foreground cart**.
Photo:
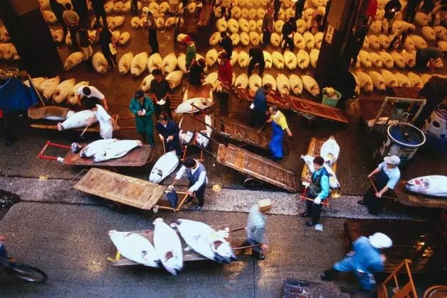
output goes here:
{"type": "MultiPolygon", "coordinates": [[[[163,219],[155,219],[153,241],[137,233],[109,231],[111,241],[123,257],[150,267],[165,267],[177,275],[183,268],[182,242],[177,232],[163,219]]],[[[175,225],[189,248],[199,255],[218,263],[236,260],[230,243],[226,241],[229,230],[214,231],[211,226],[199,221],[178,219],[175,225]]]]}

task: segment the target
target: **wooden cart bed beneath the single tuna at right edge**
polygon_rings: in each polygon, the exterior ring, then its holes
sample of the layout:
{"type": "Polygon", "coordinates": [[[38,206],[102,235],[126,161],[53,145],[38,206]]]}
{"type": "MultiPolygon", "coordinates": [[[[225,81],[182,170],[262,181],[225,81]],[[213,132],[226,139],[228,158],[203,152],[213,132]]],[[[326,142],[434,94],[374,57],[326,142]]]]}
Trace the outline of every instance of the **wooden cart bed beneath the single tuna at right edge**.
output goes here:
{"type": "Polygon", "coordinates": [[[405,188],[405,184],[407,184],[407,181],[401,181],[394,188],[394,194],[396,194],[397,200],[401,204],[424,208],[447,208],[447,199],[445,197],[432,197],[409,192],[405,188]]]}

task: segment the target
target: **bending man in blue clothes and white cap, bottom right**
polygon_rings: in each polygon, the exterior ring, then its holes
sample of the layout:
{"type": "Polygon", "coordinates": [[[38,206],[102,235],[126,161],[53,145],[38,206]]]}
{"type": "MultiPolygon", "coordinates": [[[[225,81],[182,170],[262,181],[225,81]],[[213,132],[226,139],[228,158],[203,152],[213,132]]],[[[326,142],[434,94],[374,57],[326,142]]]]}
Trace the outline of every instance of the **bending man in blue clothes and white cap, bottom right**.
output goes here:
{"type": "Polygon", "coordinates": [[[375,233],[368,238],[361,236],[354,241],[353,250],[346,255],[346,258],[324,271],[321,279],[333,280],[336,272],[354,272],[360,287],[371,291],[375,285],[373,273],[382,272],[387,260],[385,255],[380,254],[380,249],[390,248],[391,245],[392,240],[384,233],[375,233]]]}

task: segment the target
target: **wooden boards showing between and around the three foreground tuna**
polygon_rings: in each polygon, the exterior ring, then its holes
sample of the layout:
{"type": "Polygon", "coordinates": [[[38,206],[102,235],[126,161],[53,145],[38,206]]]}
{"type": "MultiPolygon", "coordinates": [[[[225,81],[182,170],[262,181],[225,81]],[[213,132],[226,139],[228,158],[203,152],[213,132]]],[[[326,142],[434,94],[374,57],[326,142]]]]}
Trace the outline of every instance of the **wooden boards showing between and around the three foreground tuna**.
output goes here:
{"type": "MultiPolygon", "coordinates": [[[[227,224],[222,224],[219,226],[211,226],[211,228],[214,228],[216,231],[224,230],[225,228],[228,228],[228,230],[229,230],[229,226],[227,224]]],[[[184,242],[182,236],[180,236],[180,233],[177,230],[177,228],[175,228],[174,231],[177,232],[177,235],[180,238],[180,242],[182,243],[183,261],[184,262],[194,261],[194,260],[208,260],[203,255],[199,255],[198,253],[196,253],[194,250],[187,249],[188,245],[187,245],[187,243],[184,242]]],[[[136,233],[140,236],[143,236],[144,238],[148,239],[148,241],[150,241],[150,243],[152,243],[152,245],[154,244],[154,230],[130,231],[129,233],[136,233]]],[[[231,230],[229,230],[229,236],[225,239],[226,239],[226,241],[231,243],[231,240],[232,240],[231,230]]],[[[133,262],[132,260],[129,260],[121,255],[119,260],[112,261],[112,265],[114,265],[114,266],[128,266],[128,265],[140,265],[140,264],[133,262]]]]}

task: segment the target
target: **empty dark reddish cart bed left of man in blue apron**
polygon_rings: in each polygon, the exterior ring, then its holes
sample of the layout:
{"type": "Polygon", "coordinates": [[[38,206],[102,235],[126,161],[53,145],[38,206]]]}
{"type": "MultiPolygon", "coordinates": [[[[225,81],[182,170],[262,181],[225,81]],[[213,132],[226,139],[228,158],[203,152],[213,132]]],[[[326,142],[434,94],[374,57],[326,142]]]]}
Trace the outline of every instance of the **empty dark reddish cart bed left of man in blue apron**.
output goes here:
{"type": "Polygon", "coordinates": [[[214,127],[217,132],[232,140],[237,140],[241,143],[253,145],[261,149],[268,149],[268,143],[272,139],[270,133],[258,132],[258,129],[246,126],[243,123],[234,121],[230,118],[219,116],[214,121],[214,127]]]}

